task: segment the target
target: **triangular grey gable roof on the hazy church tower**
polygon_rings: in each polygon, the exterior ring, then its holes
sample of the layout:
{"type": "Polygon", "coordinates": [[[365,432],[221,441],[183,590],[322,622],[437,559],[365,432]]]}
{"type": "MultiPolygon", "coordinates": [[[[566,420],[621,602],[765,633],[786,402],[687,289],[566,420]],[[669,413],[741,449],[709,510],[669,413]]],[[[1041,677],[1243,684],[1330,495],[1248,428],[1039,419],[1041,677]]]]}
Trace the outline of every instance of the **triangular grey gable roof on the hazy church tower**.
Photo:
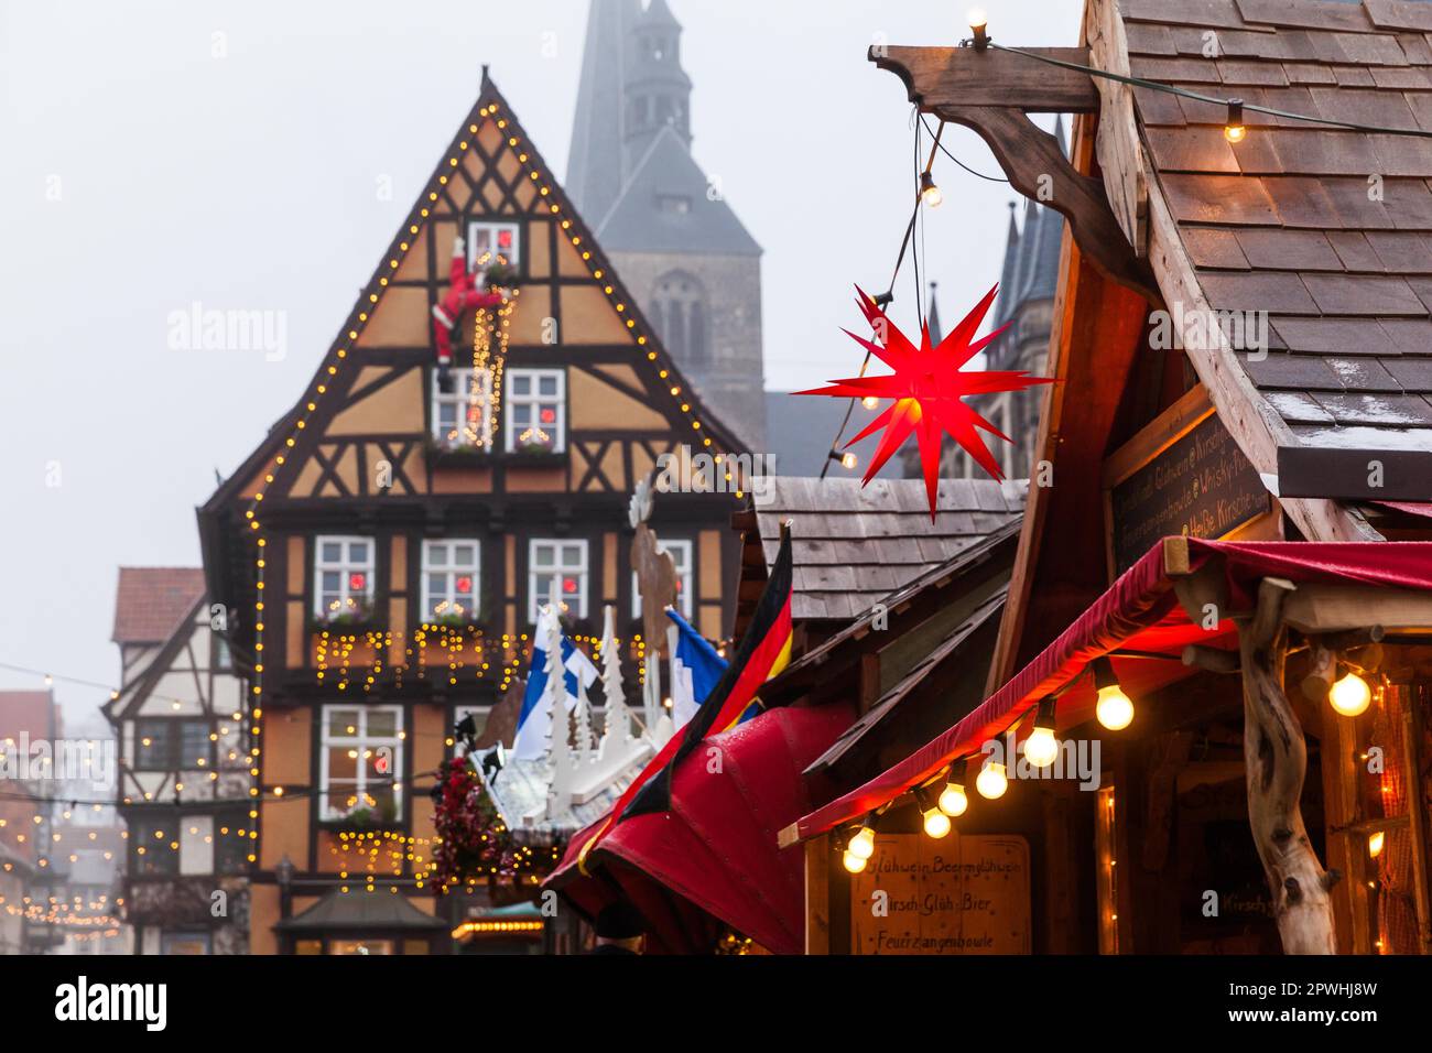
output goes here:
{"type": "Polygon", "coordinates": [[[750,236],[726,199],[709,193],[706,173],[686,143],[663,128],[637,162],[621,196],[597,225],[597,239],[609,252],[700,252],[758,256],[750,236]],[[663,208],[679,198],[687,211],[663,208]]]}

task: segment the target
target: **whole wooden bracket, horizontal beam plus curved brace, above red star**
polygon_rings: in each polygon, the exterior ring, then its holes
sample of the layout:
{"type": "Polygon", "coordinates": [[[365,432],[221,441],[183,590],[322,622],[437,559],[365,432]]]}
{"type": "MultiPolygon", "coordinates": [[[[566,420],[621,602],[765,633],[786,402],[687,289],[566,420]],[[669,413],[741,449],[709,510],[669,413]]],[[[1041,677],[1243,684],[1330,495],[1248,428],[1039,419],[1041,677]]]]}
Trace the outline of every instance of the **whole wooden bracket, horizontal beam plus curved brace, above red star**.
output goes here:
{"type": "MultiPolygon", "coordinates": [[[[1084,47],[1025,49],[1088,63],[1084,47]]],[[[895,73],[922,113],[964,125],[994,152],[1010,185],[1060,212],[1090,262],[1151,304],[1163,298],[1153,271],[1130,245],[1104,183],[1074,169],[1053,135],[1030,113],[1097,113],[1094,79],[1028,56],[972,47],[872,47],[869,60],[895,73]]]]}

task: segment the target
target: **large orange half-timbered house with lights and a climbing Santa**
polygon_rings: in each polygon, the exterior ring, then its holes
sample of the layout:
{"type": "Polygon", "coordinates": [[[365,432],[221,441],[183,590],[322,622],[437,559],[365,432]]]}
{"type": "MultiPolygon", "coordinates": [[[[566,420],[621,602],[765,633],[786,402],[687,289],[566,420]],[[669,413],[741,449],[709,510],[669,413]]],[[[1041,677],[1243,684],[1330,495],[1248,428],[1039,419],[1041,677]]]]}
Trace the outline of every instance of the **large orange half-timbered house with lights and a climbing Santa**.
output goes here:
{"type": "Polygon", "coordinates": [[[723,635],[740,453],[484,70],[311,384],[199,513],[253,703],[256,953],[438,948],[342,898],[442,915],[427,791],[527,669],[554,579],[579,646],[616,607],[636,676],[639,480],[677,606],[723,635]]]}

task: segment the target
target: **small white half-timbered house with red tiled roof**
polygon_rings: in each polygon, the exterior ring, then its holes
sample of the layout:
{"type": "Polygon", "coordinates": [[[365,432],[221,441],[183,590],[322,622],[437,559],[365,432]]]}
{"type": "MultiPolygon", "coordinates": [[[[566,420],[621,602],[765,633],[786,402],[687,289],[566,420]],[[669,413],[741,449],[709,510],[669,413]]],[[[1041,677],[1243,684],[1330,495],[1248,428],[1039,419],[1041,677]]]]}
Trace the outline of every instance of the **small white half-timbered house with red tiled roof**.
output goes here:
{"type": "Polygon", "coordinates": [[[243,954],[253,857],[248,701],[198,567],[120,567],[116,804],[139,954],[243,954]]]}

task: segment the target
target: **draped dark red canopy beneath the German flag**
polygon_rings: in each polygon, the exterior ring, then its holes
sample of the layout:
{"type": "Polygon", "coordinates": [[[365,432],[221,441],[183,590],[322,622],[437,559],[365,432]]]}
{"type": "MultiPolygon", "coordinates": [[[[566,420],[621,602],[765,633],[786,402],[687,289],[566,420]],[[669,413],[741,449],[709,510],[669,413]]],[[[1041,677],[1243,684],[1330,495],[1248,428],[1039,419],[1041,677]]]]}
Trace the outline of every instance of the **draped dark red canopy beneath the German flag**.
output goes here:
{"type": "Polygon", "coordinates": [[[593,824],[573,838],[548,887],[589,915],[632,901],[657,950],[709,946],[717,918],[768,950],[799,954],[805,857],[778,848],[776,834],[811,807],[802,772],[852,718],[845,705],[785,706],[712,735],[676,769],[672,811],[617,824],[581,874],[577,850],[593,824]]]}

